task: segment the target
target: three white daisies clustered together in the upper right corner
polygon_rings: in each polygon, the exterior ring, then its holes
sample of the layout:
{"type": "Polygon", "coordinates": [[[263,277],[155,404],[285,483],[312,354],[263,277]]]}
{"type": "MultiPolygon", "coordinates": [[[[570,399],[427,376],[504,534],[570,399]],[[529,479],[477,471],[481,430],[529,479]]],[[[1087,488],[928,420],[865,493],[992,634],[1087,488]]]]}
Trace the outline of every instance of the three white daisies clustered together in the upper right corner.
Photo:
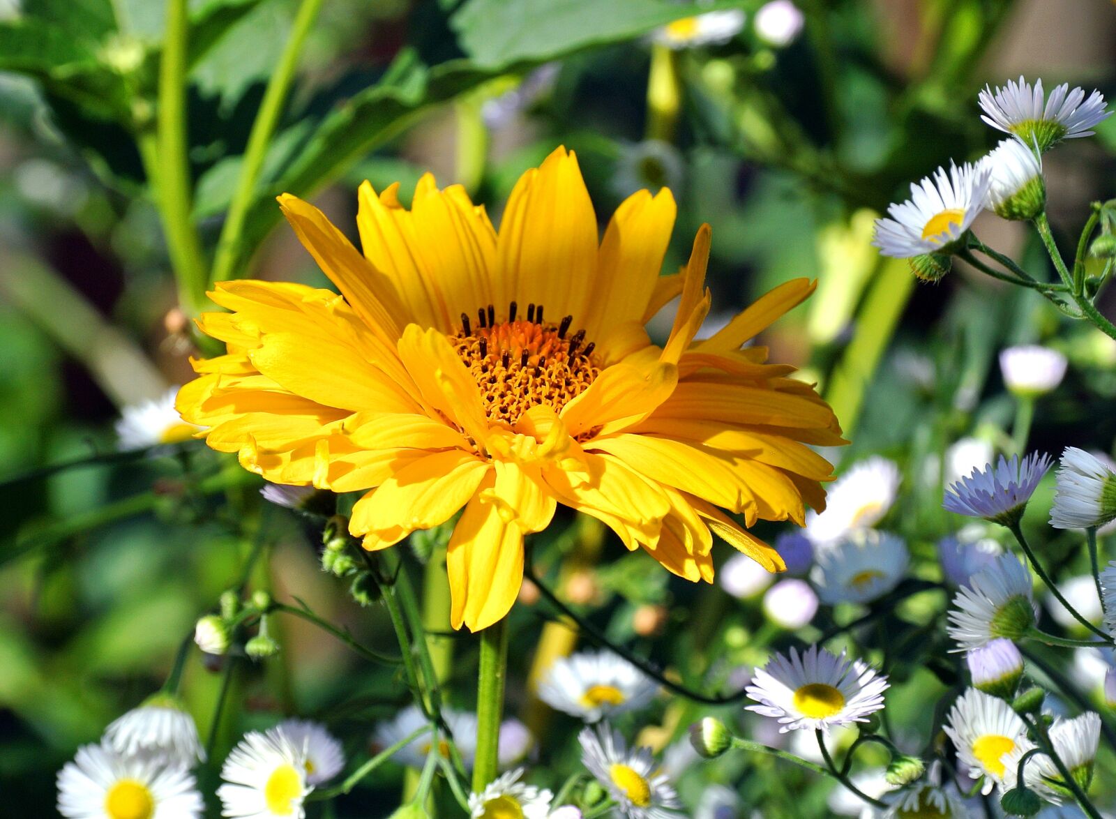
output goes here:
{"type": "Polygon", "coordinates": [[[940,167],[912,184],[911,199],[888,206],[889,219],[876,220],[873,244],[884,256],[950,253],[983,210],[1033,219],[1046,205],[1042,152],[1062,139],[1090,136],[1112,113],[1099,91],[1086,97],[1064,84],[1046,97],[1041,79],[1032,86],[1022,77],[995,90],[985,87],[979,103],[981,118],[1010,138],[975,163],[951,163],[949,171],[940,167]]]}

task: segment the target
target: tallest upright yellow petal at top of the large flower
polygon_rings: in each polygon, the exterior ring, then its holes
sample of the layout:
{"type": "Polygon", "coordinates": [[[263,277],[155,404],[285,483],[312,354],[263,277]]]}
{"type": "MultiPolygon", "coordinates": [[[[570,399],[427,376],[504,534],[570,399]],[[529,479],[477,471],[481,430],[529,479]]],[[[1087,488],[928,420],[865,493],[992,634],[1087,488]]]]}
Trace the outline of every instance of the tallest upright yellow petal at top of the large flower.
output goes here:
{"type": "Polygon", "coordinates": [[[520,176],[508,199],[497,240],[499,306],[542,305],[552,321],[580,327],[593,302],[597,218],[577,156],[559,147],[520,176]]]}

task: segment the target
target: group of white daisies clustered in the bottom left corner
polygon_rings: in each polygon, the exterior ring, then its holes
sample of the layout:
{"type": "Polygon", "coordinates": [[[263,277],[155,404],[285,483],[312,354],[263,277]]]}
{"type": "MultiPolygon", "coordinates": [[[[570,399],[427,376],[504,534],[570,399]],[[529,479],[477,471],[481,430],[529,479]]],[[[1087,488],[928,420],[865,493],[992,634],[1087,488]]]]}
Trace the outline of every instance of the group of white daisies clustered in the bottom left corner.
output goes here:
{"type": "MultiPolygon", "coordinates": [[[[175,697],[156,694],[59,771],[58,812],[67,819],[201,819],[205,806],[192,769],[204,760],[193,717],[175,697]]],[[[249,732],[221,769],[221,815],[302,817],[315,786],[344,767],[340,743],[316,722],[287,720],[249,732]]]]}

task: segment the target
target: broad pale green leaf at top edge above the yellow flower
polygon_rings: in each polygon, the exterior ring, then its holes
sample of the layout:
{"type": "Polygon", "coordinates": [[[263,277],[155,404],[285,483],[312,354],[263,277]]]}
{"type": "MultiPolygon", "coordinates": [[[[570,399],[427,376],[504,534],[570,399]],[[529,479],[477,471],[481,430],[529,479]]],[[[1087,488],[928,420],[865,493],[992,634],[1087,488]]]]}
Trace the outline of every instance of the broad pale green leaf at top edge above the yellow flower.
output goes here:
{"type": "Polygon", "coordinates": [[[700,8],[675,0],[469,0],[450,18],[450,26],[479,67],[504,68],[629,40],[698,12],[742,6],[739,0],[700,8]]]}

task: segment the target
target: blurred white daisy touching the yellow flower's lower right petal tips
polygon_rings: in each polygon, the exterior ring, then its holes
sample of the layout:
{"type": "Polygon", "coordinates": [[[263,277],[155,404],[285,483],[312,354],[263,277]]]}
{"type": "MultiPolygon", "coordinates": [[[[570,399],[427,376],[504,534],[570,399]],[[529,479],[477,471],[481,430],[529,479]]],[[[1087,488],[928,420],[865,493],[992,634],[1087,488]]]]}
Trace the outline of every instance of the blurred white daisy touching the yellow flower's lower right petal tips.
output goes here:
{"type": "Polygon", "coordinates": [[[868,529],[887,514],[899,488],[899,468],[873,455],[853,466],[826,492],[826,511],[806,516],[806,537],[815,546],[833,546],[849,532],[868,529]]]}

